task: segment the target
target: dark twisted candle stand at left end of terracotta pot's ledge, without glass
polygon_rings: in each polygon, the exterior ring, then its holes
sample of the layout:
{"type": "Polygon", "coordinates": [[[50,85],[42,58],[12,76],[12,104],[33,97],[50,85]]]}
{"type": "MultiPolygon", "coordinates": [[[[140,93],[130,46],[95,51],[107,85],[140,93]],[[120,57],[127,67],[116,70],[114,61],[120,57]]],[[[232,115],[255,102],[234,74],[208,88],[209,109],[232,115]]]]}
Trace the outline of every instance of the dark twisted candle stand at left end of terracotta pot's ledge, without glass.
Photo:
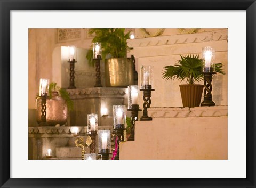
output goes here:
{"type": "Polygon", "coordinates": [[[143,115],[140,117],[141,121],[151,121],[152,118],[148,116],[147,109],[150,108],[151,105],[151,91],[155,91],[155,89],[152,89],[151,85],[143,85],[143,89],[140,89],[140,91],[143,91],[143,115]]]}

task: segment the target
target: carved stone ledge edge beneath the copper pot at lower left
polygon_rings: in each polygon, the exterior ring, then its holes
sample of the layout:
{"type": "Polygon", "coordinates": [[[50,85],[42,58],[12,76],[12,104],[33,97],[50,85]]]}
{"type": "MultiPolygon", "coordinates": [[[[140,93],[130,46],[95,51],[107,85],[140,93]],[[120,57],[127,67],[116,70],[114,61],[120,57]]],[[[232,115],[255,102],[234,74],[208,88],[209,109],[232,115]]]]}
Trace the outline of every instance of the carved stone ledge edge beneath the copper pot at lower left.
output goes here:
{"type": "MultiPolygon", "coordinates": [[[[74,127],[28,127],[28,137],[73,137],[73,129],[78,127],[81,136],[87,133],[87,126],[74,126],[74,127]],[[44,136],[43,136],[44,135],[44,136]],[[57,136],[58,135],[58,136],[57,136]]],[[[111,130],[113,126],[99,126],[99,130],[111,130]]]]}

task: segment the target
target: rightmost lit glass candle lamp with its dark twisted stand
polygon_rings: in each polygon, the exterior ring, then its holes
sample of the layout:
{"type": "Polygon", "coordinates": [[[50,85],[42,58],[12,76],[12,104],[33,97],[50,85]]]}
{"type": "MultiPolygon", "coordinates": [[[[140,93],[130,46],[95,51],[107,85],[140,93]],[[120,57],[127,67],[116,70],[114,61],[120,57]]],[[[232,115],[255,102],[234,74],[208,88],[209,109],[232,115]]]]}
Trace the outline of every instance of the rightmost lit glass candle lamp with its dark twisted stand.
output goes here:
{"type": "Polygon", "coordinates": [[[215,106],[212,101],[212,75],[215,72],[215,48],[202,48],[202,73],[204,74],[204,100],[201,106],[215,106]]]}

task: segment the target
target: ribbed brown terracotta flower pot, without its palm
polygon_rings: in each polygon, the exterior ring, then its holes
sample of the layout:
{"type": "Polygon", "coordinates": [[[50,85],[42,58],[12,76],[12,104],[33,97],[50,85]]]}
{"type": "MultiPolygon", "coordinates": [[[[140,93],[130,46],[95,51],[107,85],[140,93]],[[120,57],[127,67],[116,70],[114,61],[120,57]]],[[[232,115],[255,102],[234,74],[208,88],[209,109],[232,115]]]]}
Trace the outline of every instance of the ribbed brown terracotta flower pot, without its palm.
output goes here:
{"type": "Polygon", "coordinates": [[[199,107],[204,85],[201,84],[182,84],[180,86],[183,107],[199,107]]]}

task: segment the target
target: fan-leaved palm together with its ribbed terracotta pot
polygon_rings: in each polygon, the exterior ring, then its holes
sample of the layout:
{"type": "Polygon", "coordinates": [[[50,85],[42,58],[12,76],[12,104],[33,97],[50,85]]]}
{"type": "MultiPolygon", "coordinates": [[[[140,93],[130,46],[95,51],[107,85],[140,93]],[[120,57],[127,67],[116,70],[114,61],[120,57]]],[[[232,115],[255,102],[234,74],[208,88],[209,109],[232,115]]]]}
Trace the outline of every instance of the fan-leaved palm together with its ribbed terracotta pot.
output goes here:
{"type": "MultiPolygon", "coordinates": [[[[181,60],[178,60],[174,66],[165,66],[163,69],[163,79],[178,79],[185,80],[187,84],[181,84],[180,92],[183,107],[199,107],[204,85],[195,84],[203,80],[204,75],[202,73],[202,60],[199,59],[199,55],[180,55],[181,60]]],[[[215,63],[215,72],[219,72],[225,75],[223,72],[223,64],[215,63]]]]}

